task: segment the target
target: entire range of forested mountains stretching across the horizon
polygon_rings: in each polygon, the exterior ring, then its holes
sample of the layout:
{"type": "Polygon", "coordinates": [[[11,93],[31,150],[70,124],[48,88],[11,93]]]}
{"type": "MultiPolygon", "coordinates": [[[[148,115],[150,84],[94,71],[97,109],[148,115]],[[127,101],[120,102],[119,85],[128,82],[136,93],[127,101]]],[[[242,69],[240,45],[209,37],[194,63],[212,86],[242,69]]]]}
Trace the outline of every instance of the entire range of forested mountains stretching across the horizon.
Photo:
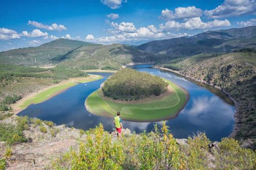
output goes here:
{"type": "Polygon", "coordinates": [[[255,45],[256,26],[207,31],[191,37],[151,41],[139,46],[57,39],[36,47],[1,52],[0,63],[119,69],[129,62],[168,62],[201,53],[226,53],[255,48],[255,45]]]}

